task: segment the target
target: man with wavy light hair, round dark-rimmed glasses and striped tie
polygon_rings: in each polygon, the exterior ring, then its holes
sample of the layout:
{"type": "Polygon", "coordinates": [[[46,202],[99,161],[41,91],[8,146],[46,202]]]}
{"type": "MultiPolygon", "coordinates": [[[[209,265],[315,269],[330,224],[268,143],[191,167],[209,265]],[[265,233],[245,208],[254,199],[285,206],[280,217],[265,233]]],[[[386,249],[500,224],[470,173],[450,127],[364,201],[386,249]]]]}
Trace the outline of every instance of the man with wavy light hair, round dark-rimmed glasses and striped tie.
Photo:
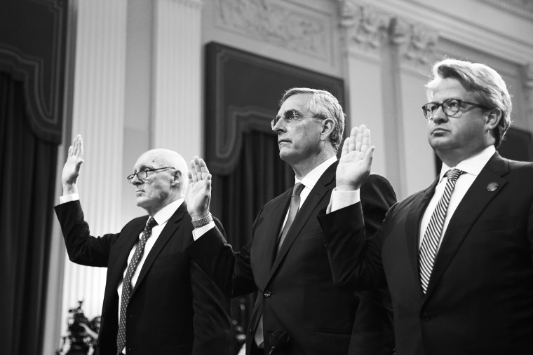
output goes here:
{"type": "MultiPolygon", "coordinates": [[[[442,171],[393,206],[371,239],[357,199],[334,197],[320,216],[333,277],[354,290],[386,279],[399,355],[532,354],[533,164],[496,151],[511,122],[506,85],[484,64],[449,59],[426,86],[428,140],[442,171]]],[[[363,132],[343,147],[339,193],[370,172],[363,132]]]]}

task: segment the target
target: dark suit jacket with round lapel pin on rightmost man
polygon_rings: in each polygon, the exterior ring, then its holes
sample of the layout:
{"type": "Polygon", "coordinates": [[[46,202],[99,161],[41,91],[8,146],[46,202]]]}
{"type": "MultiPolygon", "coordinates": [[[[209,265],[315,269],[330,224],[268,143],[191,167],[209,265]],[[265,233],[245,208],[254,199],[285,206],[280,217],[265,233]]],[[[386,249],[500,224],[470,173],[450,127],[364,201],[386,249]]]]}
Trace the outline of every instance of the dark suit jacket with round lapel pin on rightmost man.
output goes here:
{"type": "Polygon", "coordinates": [[[450,220],[424,295],[419,229],[436,183],[392,207],[367,242],[360,204],[320,216],[335,282],[361,289],[386,277],[399,355],[533,354],[533,164],[498,153],[487,162],[450,220]]]}

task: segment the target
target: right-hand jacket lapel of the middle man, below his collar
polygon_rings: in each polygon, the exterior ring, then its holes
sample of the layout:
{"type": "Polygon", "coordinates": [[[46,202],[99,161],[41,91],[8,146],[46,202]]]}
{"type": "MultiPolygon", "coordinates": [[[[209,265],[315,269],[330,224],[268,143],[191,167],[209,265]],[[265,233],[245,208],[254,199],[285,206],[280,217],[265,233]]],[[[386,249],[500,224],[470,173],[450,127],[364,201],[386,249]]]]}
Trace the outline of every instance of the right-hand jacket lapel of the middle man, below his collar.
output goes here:
{"type": "Polygon", "coordinates": [[[335,181],[335,171],[337,169],[337,162],[332,164],[326,171],[322,174],[321,178],[318,179],[315,186],[313,187],[313,190],[309,193],[309,196],[304,201],[304,204],[302,204],[302,207],[300,207],[298,214],[295,217],[295,220],[292,222],[292,225],[290,226],[290,229],[285,236],[285,241],[281,245],[281,249],[279,250],[278,256],[276,256],[276,259],[274,260],[274,265],[272,266],[272,269],[270,271],[269,279],[274,275],[276,272],[276,269],[281,263],[281,260],[285,258],[285,255],[287,255],[290,247],[295,242],[295,239],[299,235],[299,232],[304,228],[304,225],[309,220],[309,217],[311,217],[311,214],[313,214],[313,211],[316,209],[318,204],[323,200],[325,195],[328,195],[328,192],[332,190],[332,183],[335,181]]]}

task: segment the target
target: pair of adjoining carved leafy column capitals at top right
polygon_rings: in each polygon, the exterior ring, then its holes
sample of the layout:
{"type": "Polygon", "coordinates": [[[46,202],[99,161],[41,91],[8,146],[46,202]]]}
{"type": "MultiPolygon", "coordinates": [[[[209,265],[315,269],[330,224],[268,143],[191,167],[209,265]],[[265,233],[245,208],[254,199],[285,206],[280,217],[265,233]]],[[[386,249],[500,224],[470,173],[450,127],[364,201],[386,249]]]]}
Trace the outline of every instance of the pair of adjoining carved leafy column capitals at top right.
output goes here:
{"type": "Polygon", "coordinates": [[[390,41],[398,46],[403,64],[418,67],[434,61],[438,42],[436,30],[367,4],[341,1],[341,25],[346,29],[349,50],[379,55],[383,41],[390,41]]]}

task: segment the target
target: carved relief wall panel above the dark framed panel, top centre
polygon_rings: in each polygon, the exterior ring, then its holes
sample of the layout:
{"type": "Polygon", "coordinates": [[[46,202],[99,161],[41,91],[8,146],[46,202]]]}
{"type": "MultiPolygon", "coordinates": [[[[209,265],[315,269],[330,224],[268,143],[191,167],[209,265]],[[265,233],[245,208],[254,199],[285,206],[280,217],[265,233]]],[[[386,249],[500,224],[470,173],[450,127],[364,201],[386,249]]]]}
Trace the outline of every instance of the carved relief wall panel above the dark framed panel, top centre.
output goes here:
{"type": "Polygon", "coordinates": [[[218,27],[328,62],[332,48],[325,16],[274,0],[216,0],[218,27]]]}

